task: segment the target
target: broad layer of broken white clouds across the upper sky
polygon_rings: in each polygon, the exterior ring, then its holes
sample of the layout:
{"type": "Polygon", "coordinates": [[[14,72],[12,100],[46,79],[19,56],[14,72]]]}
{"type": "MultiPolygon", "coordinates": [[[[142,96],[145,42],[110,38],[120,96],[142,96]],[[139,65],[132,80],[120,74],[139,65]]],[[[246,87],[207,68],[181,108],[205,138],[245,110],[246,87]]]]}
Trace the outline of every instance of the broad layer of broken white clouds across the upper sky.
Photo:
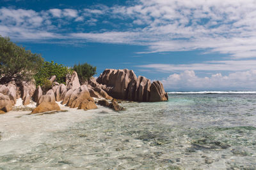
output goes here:
{"type": "Polygon", "coordinates": [[[255,17],[255,0],[140,0],[127,6],[42,11],[2,7],[0,34],[19,41],[147,46],[141,53],[204,49],[244,59],[256,57],[255,17]]]}

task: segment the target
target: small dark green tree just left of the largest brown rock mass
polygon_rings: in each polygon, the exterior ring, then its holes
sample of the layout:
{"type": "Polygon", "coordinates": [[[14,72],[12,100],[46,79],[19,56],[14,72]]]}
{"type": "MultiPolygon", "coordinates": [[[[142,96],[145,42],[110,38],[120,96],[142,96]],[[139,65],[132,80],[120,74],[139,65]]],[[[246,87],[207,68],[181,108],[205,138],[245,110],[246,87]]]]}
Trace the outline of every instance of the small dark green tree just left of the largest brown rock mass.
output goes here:
{"type": "Polygon", "coordinates": [[[73,69],[76,71],[80,83],[84,83],[84,81],[89,80],[94,74],[96,74],[96,67],[87,63],[75,64],[73,69]]]}

